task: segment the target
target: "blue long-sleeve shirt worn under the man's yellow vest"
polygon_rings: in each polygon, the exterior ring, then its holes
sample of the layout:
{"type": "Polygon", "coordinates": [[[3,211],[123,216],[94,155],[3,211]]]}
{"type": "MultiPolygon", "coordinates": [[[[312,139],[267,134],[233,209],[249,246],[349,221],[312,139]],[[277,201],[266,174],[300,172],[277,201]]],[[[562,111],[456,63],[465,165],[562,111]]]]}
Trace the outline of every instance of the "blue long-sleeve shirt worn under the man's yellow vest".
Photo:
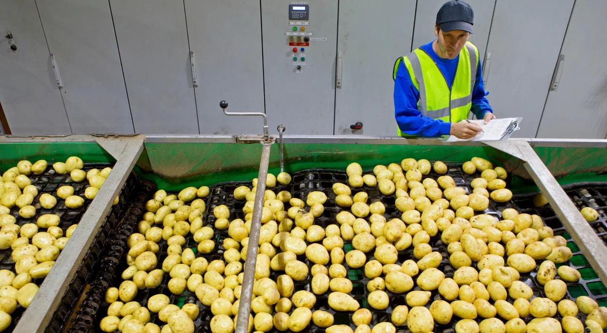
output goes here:
{"type": "MultiPolygon", "coordinates": [[[[436,54],[432,48],[432,43],[433,41],[419,48],[429,54],[439,70],[441,70],[441,73],[447,78],[447,84],[451,88],[453,79],[455,79],[455,70],[459,56],[455,59],[443,59],[436,54]]],[[[483,119],[487,112],[493,113],[489,101],[485,97],[488,93],[484,89],[481,72],[481,61],[479,59],[478,67],[476,68],[476,80],[472,90],[472,109],[470,110],[476,116],[476,119],[483,119]]],[[[394,82],[394,109],[398,127],[403,133],[415,136],[438,137],[449,135],[451,123],[422,116],[421,111],[418,110],[418,100],[419,91],[413,85],[409,71],[407,71],[404,63],[401,62],[394,82]]]]}

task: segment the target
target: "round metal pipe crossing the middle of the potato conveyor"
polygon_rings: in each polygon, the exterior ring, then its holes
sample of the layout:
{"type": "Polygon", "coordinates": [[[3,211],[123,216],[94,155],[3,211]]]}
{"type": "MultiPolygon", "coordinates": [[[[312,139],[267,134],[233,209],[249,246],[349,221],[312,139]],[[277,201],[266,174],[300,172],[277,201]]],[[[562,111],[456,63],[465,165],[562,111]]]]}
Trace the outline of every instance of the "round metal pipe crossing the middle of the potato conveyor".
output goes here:
{"type": "Polygon", "coordinates": [[[242,279],[240,291],[240,304],[236,318],[236,333],[248,332],[249,315],[251,314],[251,300],[253,299],[253,282],[255,277],[255,264],[257,262],[257,249],[259,248],[259,229],[261,228],[263,195],[265,182],[268,177],[268,163],[270,162],[270,148],[273,140],[262,142],[262,158],[259,162],[259,175],[257,176],[257,191],[253,205],[253,218],[251,219],[251,232],[246,248],[245,275],[242,279]]]}

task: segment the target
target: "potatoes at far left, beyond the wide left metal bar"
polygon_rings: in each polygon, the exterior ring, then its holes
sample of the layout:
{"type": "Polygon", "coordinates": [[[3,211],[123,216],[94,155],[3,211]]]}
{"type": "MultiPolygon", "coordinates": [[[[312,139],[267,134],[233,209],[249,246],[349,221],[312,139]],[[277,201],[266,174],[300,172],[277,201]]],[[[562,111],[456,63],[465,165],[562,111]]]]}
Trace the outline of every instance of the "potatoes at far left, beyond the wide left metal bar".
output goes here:
{"type": "MultiPolygon", "coordinates": [[[[41,194],[32,185],[30,175],[39,175],[47,170],[46,160],[31,163],[20,161],[17,166],[8,169],[0,180],[0,249],[12,249],[14,270],[0,270],[0,332],[11,323],[11,314],[17,305],[27,308],[32,298],[38,292],[38,286],[33,279],[42,279],[49,274],[59,257],[59,252],[66,246],[77,224],[67,228],[65,234],[59,228],[60,218],[56,214],[38,214],[37,209],[52,209],[57,204],[57,197],[65,200],[67,208],[79,208],[84,199],[74,196],[72,186],[61,186],[56,191],[56,197],[51,194],[41,194]],[[38,202],[34,200],[38,197],[38,202]],[[11,211],[16,212],[22,219],[36,219],[35,223],[18,224],[11,211]]],[[[53,164],[56,173],[70,173],[75,182],[89,180],[86,189],[87,199],[93,199],[104,180],[112,171],[93,169],[88,173],[82,170],[84,162],[80,157],[71,156],[65,163],[53,164]],[[100,179],[101,178],[101,179],[100,179]]]]}

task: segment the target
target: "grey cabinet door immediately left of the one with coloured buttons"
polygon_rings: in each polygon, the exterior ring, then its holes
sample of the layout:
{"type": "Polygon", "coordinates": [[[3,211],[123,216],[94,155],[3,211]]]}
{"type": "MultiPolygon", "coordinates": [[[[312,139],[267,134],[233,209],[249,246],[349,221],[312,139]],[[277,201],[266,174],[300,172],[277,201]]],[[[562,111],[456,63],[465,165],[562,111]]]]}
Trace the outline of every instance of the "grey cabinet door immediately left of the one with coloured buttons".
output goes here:
{"type": "Polygon", "coordinates": [[[201,134],[260,133],[261,119],[226,116],[228,111],[264,112],[259,1],[185,1],[190,50],[198,82],[201,134]]]}

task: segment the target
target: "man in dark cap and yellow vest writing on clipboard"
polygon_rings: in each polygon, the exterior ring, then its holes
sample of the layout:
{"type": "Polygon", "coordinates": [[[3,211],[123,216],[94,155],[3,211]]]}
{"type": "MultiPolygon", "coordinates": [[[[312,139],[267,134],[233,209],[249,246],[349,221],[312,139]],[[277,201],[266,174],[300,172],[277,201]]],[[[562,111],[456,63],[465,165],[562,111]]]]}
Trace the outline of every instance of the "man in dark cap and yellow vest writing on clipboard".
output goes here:
{"type": "Polygon", "coordinates": [[[474,13],[463,0],[436,14],[436,39],[396,60],[394,107],[399,136],[470,139],[482,131],[469,111],[487,124],[495,119],[483,87],[478,49],[468,42],[474,13]]]}

